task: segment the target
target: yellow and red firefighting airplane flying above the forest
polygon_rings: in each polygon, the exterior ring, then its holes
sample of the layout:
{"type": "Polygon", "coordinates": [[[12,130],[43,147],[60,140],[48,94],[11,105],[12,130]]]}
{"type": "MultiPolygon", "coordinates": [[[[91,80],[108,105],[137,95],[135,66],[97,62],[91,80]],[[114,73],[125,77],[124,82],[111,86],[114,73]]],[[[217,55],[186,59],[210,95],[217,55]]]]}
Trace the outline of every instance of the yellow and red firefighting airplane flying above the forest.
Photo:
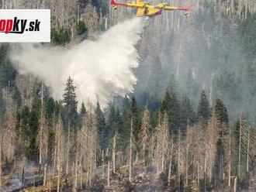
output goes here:
{"type": "Polygon", "coordinates": [[[190,7],[173,7],[170,5],[166,5],[166,3],[158,3],[157,5],[150,5],[147,2],[137,0],[137,2],[115,2],[115,0],[111,0],[111,5],[113,5],[113,9],[117,9],[117,5],[123,5],[126,7],[131,7],[137,9],[137,16],[155,16],[161,15],[162,10],[175,11],[182,10],[185,11],[185,15],[189,14],[190,7]]]}

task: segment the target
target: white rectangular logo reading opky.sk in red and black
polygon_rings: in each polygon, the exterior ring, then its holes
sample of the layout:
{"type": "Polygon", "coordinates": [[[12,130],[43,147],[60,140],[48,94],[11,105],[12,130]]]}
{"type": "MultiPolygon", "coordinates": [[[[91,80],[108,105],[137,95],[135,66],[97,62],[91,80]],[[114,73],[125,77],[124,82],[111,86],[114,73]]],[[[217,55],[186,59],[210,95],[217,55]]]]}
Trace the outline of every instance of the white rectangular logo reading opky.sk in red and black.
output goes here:
{"type": "Polygon", "coordinates": [[[50,9],[0,9],[0,42],[50,42],[50,9]]]}

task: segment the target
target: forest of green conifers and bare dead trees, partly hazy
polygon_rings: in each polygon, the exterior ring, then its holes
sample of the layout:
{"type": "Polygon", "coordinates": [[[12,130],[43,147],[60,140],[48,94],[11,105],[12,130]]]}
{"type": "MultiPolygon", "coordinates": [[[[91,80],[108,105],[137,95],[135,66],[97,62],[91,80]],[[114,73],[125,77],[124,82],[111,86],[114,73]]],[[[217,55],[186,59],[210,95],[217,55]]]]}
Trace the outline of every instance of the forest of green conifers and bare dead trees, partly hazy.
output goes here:
{"type": "MultiPolygon", "coordinates": [[[[50,46],[65,49],[134,14],[105,0],[0,2],[51,9],[50,46]]],[[[256,3],[168,3],[193,10],[147,20],[137,84],[106,103],[81,101],[75,75],[54,97],[0,44],[1,191],[256,190],[256,3]]]]}

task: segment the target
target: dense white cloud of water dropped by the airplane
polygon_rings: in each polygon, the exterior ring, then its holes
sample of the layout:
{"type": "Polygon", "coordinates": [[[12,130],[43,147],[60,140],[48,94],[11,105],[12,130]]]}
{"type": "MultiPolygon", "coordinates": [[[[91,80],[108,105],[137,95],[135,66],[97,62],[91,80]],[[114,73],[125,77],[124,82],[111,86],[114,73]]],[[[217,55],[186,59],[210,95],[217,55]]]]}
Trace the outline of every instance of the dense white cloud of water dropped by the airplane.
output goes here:
{"type": "Polygon", "coordinates": [[[96,41],[85,40],[69,49],[39,44],[20,44],[12,50],[12,61],[21,74],[33,74],[61,98],[67,77],[77,87],[78,101],[88,99],[102,105],[116,94],[133,91],[139,65],[135,45],[143,25],[139,18],[112,26],[96,41]]]}

